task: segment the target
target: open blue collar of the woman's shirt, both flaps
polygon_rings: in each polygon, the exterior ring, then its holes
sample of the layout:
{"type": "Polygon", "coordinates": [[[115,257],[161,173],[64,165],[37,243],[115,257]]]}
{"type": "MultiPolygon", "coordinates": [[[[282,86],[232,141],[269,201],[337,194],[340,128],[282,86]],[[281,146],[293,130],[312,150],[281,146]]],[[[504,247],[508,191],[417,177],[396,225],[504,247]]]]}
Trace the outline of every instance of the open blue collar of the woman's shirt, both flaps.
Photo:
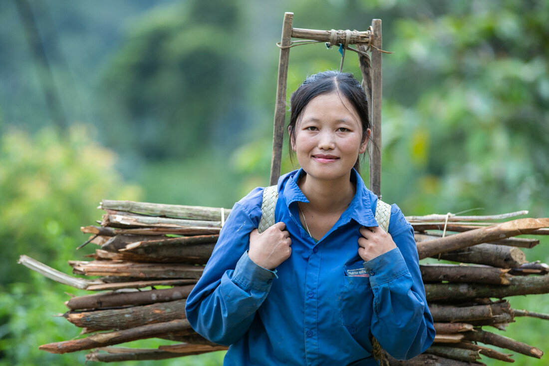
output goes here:
{"type": "MultiPolygon", "coordinates": [[[[301,174],[306,174],[302,168],[285,174],[278,179],[278,192],[282,192],[288,209],[293,202],[309,202],[298,186],[301,174]]],[[[351,170],[351,181],[356,185],[356,193],[349,204],[349,208],[341,215],[340,223],[346,224],[354,219],[362,226],[378,226],[372,212],[372,208],[375,207],[372,204],[377,203],[376,195],[366,188],[362,177],[355,169],[351,170]]]]}

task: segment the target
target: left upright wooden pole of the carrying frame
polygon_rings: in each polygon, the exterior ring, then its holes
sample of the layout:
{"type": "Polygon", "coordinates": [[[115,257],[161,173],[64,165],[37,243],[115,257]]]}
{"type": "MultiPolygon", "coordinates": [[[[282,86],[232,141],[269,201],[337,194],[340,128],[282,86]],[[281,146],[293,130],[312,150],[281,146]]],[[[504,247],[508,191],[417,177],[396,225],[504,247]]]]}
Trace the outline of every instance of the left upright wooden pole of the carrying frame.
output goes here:
{"type": "MultiPolygon", "coordinates": [[[[292,22],[294,13],[284,13],[284,23],[282,25],[281,46],[288,47],[292,40],[292,22]]],[[[288,60],[290,57],[289,48],[280,49],[280,59],[278,62],[278,84],[276,89],[275,106],[275,128],[273,130],[273,153],[271,160],[271,180],[270,185],[277,184],[282,165],[282,145],[284,141],[284,125],[286,120],[286,88],[288,84],[288,60]]]]}

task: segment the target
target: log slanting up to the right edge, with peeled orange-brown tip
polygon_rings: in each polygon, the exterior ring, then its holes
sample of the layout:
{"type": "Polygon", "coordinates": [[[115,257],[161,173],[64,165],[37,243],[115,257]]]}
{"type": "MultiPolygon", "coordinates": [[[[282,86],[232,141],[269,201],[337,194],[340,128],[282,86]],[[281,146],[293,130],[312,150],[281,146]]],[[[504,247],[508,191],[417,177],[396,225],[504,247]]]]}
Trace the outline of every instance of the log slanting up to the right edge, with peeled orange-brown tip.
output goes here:
{"type": "Polygon", "coordinates": [[[441,237],[440,239],[418,243],[419,259],[433,257],[439,253],[504,239],[509,236],[528,234],[531,231],[549,227],[549,218],[516,219],[495,224],[486,228],[461,232],[460,234],[441,237]]]}

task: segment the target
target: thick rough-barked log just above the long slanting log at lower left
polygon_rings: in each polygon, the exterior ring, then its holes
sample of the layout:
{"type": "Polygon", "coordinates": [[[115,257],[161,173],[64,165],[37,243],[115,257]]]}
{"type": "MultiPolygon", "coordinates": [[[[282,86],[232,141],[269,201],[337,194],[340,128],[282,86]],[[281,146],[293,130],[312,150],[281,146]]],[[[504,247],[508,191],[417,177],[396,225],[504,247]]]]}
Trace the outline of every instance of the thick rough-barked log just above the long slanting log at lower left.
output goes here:
{"type": "Polygon", "coordinates": [[[93,330],[121,330],[154,323],[184,319],[186,299],[156,302],[149,305],[118,309],[68,311],[63,316],[80,328],[93,330]]]}

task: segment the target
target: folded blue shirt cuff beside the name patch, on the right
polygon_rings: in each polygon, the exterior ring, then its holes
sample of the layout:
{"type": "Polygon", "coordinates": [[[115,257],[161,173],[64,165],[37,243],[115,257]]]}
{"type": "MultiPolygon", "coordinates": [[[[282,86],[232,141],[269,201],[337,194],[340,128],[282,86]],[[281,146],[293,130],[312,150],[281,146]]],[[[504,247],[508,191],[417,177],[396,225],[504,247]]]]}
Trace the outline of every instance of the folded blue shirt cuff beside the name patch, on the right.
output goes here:
{"type": "Polygon", "coordinates": [[[408,266],[400,253],[399,248],[381,254],[380,256],[364,262],[364,268],[368,271],[370,286],[382,285],[409,273],[408,266]]]}

